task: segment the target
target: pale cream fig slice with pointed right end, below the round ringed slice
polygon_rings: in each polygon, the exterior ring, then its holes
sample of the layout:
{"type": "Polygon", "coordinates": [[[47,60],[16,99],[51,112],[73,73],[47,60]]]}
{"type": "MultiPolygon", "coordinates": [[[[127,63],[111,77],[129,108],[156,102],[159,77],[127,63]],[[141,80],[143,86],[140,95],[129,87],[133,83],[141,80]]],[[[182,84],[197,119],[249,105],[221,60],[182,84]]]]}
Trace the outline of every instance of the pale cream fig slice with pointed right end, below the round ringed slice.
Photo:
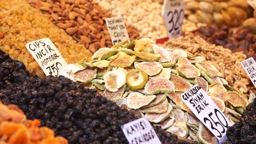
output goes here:
{"type": "Polygon", "coordinates": [[[155,99],[155,95],[143,95],[138,92],[134,92],[128,95],[127,105],[130,109],[139,109],[142,106],[148,105],[151,101],[155,99]]]}

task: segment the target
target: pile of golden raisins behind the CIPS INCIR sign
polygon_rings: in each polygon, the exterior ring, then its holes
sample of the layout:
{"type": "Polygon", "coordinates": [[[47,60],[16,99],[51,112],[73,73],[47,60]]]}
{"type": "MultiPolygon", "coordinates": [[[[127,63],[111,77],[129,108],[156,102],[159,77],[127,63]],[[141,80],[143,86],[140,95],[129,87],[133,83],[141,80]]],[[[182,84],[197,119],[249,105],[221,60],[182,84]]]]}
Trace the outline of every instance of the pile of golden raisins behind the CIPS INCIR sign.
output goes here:
{"type": "Polygon", "coordinates": [[[26,1],[0,1],[0,19],[0,49],[11,58],[23,62],[33,75],[44,76],[43,70],[25,46],[33,40],[50,38],[67,63],[91,57],[91,52],[84,45],[77,44],[63,29],[56,27],[26,1]]]}

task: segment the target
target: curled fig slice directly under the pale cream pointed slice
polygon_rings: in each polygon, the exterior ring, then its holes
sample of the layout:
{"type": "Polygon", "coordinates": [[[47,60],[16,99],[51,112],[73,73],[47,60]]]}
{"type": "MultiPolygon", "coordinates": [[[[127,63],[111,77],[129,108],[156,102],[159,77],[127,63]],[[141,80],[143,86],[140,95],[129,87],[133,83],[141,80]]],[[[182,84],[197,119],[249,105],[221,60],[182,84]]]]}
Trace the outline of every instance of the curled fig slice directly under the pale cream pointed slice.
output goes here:
{"type": "Polygon", "coordinates": [[[141,111],[144,113],[165,113],[167,111],[167,109],[168,109],[168,100],[165,99],[158,105],[141,109],[141,111]]]}

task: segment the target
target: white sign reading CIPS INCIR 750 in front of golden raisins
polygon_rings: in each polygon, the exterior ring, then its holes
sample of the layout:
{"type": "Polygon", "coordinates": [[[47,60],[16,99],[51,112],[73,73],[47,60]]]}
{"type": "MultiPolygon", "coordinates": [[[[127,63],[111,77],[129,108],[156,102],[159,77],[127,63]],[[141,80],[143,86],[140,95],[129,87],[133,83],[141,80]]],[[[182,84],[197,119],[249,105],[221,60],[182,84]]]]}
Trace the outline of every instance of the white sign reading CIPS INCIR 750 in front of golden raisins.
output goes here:
{"type": "Polygon", "coordinates": [[[57,76],[60,67],[67,65],[65,59],[49,38],[31,41],[26,44],[26,47],[46,76],[57,76]]]}

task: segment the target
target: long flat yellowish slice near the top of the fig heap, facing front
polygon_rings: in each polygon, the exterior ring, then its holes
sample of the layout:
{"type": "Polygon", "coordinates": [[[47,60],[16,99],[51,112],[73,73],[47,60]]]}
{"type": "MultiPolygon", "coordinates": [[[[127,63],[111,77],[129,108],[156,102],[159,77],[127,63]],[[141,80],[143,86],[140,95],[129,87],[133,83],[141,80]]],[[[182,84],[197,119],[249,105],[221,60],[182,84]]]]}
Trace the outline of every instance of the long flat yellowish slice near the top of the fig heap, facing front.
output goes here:
{"type": "Polygon", "coordinates": [[[158,53],[152,53],[152,52],[135,51],[135,55],[141,59],[144,59],[144,60],[150,61],[150,62],[159,61],[159,59],[161,58],[161,56],[158,53]]]}

